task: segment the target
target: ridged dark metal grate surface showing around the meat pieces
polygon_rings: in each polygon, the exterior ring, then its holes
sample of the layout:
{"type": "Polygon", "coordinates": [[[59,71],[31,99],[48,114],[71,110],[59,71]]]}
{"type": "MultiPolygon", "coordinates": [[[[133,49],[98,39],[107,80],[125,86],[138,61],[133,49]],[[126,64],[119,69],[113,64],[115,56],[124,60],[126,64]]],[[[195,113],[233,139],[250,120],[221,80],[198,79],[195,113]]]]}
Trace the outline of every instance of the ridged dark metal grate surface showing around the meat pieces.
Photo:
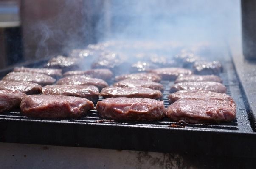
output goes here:
{"type": "MultiPolygon", "coordinates": [[[[252,132],[250,122],[248,120],[248,114],[245,111],[245,105],[242,101],[239,82],[236,79],[235,71],[233,68],[232,62],[226,62],[224,72],[220,74],[220,77],[223,80],[223,84],[227,87],[227,94],[231,95],[236,104],[237,104],[237,118],[230,123],[219,123],[219,124],[186,124],[185,128],[179,128],[181,130],[193,129],[193,130],[203,130],[203,131],[236,131],[236,132],[252,132]]],[[[165,107],[169,106],[168,95],[169,89],[174,82],[162,81],[165,86],[163,92],[163,102],[165,107]]],[[[100,98],[102,100],[102,98],[100,98]]],[[[55,123],[77,123],[77,124],[100,124],[100,125],[120,125],[126,127],[146,127],[146,128],[167,128],[174,129],[171,127],[172,124],[177,126],[177,122],[172,122],[169,119],[165,118],[160,121],[154,122],[116,122],[112,120],[102,120],[98,117],[96,110],[92,110],[86,116],[79,119],[54,119],[54,120],[42,120],[36,118],[25,117],[20,112],[5,112],[0,114],[0,119],[5,120],[32,120],[32,121],[41,121],[41,122],[55,122],[55,123]]],[[[172,125],[173,126],[173,125],[172,125]]],[[[176,127],[175,127],[176,128],[176,127]]]]}

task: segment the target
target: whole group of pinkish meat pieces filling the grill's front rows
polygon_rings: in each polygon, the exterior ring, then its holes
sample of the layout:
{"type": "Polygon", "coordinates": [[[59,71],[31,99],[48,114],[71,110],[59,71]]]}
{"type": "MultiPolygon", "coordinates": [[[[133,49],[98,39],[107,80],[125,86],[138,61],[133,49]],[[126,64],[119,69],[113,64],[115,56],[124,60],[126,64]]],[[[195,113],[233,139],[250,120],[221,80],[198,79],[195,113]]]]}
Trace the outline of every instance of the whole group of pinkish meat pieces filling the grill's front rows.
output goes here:
{"type": "Polygon", "coordinates": [[[81,117],[93,109],[93,102],[101,95],[106,99],[98,101],[98,114],[114,120],[169,117],[173,121],[208,123],[236,117],[236,104],[225,94],[222,79],[215,75],[194,75],[185,68],[158,68],[116,76],[117,82],[108,86],[113,73],[92,69],[67,71],[53,85],[55,78],[61,76],[60,69],[15,68],[0,81],[0,111],[20,106],[21,112],[29,117],[81,117]],[[163,101],[157,100],[163,96],[163,85],[158,83],[161,80],[175,80],[167,109],[163,101]]]}

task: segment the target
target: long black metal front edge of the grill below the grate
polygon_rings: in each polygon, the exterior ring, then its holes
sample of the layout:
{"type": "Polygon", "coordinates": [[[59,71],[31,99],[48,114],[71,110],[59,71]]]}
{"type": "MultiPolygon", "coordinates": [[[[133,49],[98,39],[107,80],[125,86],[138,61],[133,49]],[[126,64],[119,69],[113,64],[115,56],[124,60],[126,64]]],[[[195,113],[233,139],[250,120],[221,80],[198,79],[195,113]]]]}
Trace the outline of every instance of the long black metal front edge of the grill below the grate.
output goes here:
{"type": "Polygon", "coordinates": [[[256,157],[254,134],[14,120],[0,128],[0,142],[256,157]]]}

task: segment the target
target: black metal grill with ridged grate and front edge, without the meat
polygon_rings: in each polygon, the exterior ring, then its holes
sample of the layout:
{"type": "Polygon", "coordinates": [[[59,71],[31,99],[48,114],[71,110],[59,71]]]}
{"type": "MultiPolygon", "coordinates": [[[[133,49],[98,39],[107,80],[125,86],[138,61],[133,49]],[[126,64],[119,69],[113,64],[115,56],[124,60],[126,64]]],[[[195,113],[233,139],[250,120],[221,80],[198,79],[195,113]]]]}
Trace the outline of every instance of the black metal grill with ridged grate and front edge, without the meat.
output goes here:
{"type": "MultiPolygon", "coordinates": [[[[40,67],[45,63],[26,63],[40,67]]],[[[236,120],[220,124],[186,124],[163,119],[154,122],[102,120],[96,110],[79,119],[44,120],[25,117],[20,112],[0,114],[0,142],[141,150],[166,153],[256,157],[255,118],[239,82],[231,56],[222,60],[220,74],[227,94],[237,104],[236,120]],[[174,127],[176,125],[176,127],[174,127]]],[[[11,68],[0,71],[6,75],[11,68]]],[[[173,82],[162,81],[164,105],[173,82]]]]}

